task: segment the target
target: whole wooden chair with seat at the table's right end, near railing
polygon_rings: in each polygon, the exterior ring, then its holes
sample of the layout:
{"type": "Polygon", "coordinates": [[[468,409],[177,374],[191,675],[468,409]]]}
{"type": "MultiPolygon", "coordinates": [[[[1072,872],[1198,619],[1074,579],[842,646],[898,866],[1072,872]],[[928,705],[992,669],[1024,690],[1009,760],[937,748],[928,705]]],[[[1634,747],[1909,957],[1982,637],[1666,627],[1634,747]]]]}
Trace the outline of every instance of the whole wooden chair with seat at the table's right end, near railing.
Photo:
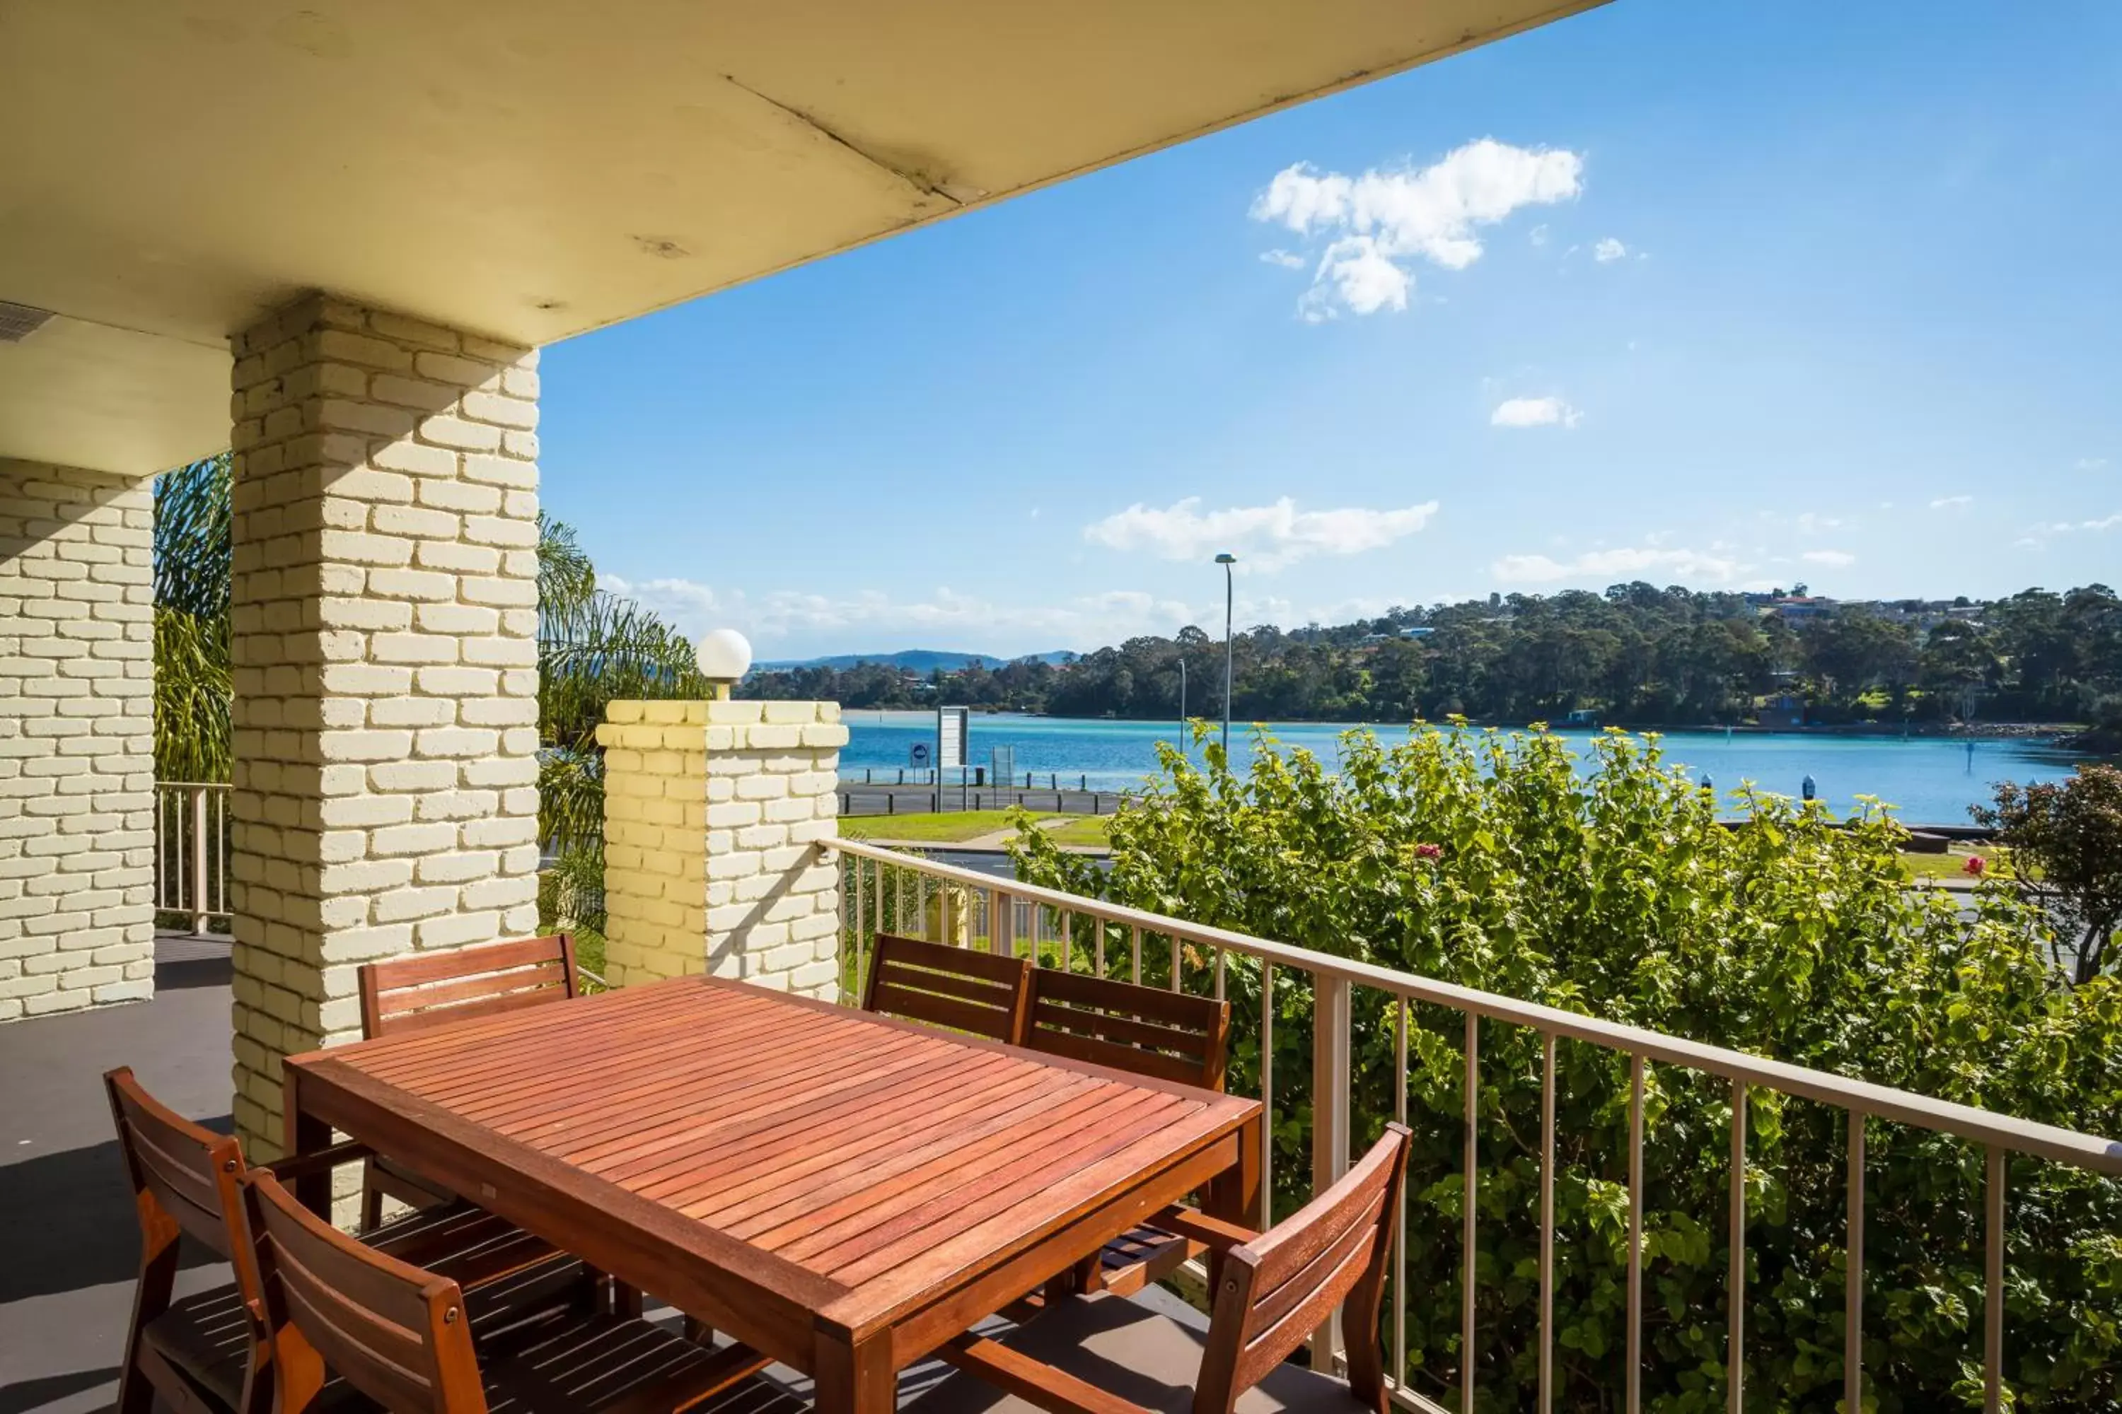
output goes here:
{"type": "Polygon", "coordinates": [[[961,1336],[938,1350],[974,1380],[951,1378],[904,1414],[1386,1414],[1377,1336],[1386,1263],[1407,1181],[1407,1130],[1386,1126],[1345,1179],[1267,1236],[1201,1215],[1182,1221],[1222,1249],[1203,1336],[1118,1295],[1065,1302],[1006,1336],[961,1336]],[[1347,1382],[1284,1365],[1341,1308],[1347,1382]],[[1093,1372],[1103,1384],[1093,1384],[1093,1372]],[[1190,1395],[1184,1382],[1193,1376],[1190,1395]],[[1110,1384],[1127,1384],[1114,1393],[1110,1384]]]}

